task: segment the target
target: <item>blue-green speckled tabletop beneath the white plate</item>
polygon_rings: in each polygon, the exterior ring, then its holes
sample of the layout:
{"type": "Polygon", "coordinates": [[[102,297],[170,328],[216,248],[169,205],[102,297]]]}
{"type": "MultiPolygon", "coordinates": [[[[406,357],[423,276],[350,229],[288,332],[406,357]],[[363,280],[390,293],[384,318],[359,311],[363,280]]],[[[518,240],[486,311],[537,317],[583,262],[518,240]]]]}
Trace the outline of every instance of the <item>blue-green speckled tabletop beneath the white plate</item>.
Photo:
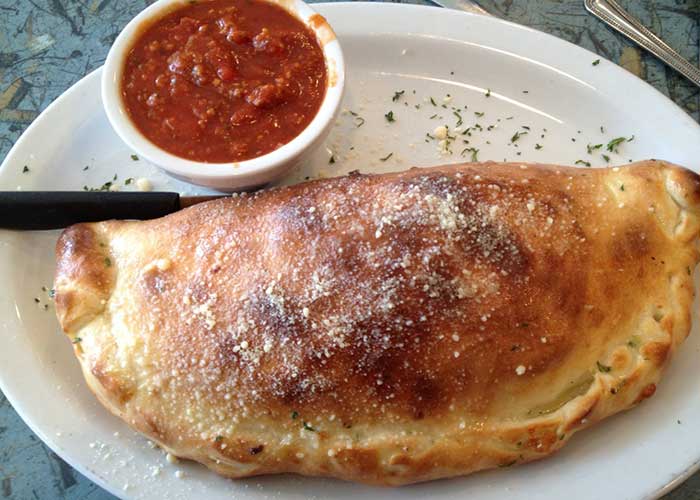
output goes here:
{"type": "MultiPolygon", "coordinates": [[[[0,0],[0,158],[51,101],[102,64],[119,30],[149,3],[0,0]]],[[[551,33],[619,62],[700,120],[700,89],[593,18],[585,11],[583,0],[480,3],[492,14],[551,33]]],[[[700,62],[700,0],[621,3],[688,60],[696,65],[700,62]]],[[[112,498],[49,450],[2,393],[0,496],[112,498]]],[[[700,473],[666,499],[700,499],[700,473]]]]}

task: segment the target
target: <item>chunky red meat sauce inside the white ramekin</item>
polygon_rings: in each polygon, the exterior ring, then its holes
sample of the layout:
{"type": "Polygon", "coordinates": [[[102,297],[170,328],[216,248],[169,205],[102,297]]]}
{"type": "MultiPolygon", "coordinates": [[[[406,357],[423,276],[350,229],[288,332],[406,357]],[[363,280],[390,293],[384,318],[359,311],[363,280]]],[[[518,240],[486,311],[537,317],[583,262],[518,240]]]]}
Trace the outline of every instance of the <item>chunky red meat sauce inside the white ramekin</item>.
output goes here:
{"type": "Polygon", "coordinates": [[[193,2],[150,25],[126,59],[136,127],[177,156],[223,163],[269,153],[311,122],[326,92],[314,33],[262,0],[193,2]]]}

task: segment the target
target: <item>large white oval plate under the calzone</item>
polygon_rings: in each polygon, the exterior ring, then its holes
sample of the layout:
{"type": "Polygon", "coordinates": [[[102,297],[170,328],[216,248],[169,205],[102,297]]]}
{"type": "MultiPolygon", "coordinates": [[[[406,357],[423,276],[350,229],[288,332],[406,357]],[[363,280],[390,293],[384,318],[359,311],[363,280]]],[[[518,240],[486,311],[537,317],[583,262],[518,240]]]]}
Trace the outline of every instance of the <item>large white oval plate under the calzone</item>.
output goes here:
{"type": "MultiPolygon", "coordinates": [[[[614,64],[594,66],[597,56],[590,52],[522,26],[438,8],[368,3],[318,8],[336,29],[347,57],[344,107],[359,116],[342,115],[327,143],[331,151],[319,151],[286,182],[459,161],[463,147],[479,149],[479,159],[601,165],[604,153],[616,163],[663,158],[698,168],[700,127],[614,64]],[[392,101],[401,90],[404,94],[392,101]],[[452,100],[443,108],[446,94],[452,100]],[[453,106],[459,106],[463,128],[478,122],[483,131],[459,136],[457,142],[468,138],[470,144],[453,143],[453,155],[444,156],[426,133],[441,124],[452,130],[458,121],[453,106]],[[385,118],[389,111],[395,122],[385,118]],[[496,127],[489,131],[489,125],[496,127]],[[528,134],[510,143],[518,131],[528,134]],[[618,155],[604,148],[586,152],[588,143],[633,134],[618,155]],[[543,147],[535,149],[536,144],[543,147]],[[329,163],[331,154],[335,163],[329,163]]],[[[0,188],[81,189],[117,174],[125,190],[134,188],[134,183],[124,185],[126,178],[148,177],[157,189],[203,192],[130,158],[103,114],[99,81],[99,70],[88,75],[27,129],[0,168],[0,188]],[[25,165],[29,172],[23,173],[25,165]]],[[[294,476],[230,481],[197,464],[169,464],[162,452],[108,414],[83,383],[42,290],[51,287],[56,236],[55,231],[0,231],[0,385],[41,439],[117,495],[638,499],[668,491],[700,459],[700,334],[693,332],[650,401],[577,434],[558,456],[539,463],[400,489],[294,476]],[[176,471],[182,477],[175,477],[176,471]]]]}

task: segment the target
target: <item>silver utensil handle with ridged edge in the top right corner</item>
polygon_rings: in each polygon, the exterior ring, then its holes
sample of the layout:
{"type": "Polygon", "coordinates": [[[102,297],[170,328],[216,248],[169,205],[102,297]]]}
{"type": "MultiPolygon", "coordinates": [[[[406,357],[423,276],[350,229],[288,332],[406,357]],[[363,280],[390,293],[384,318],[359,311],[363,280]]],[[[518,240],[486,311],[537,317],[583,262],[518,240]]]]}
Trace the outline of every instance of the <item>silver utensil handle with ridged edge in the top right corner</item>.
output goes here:
{"type": "Polygon", "coordinates": [[[700,68],[693,66],[666,42],[649,31],[615,0],[584,0],[586,9],[623,35],[638,43],[700,87],[700,68]]]}

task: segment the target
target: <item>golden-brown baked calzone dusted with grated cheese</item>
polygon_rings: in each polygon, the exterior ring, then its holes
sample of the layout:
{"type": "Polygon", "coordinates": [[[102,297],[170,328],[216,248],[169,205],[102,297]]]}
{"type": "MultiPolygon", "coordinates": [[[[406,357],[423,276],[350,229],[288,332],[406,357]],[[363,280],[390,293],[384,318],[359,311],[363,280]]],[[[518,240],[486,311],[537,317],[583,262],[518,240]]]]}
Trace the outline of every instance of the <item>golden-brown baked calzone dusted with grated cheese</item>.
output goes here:
{"type": "Polygon", "coordinates": [[[165,450],[399,485],[546,457],[651,396],[699,214],[660,161],[356,174],[68,228],[56,310],[165,450]]]}

